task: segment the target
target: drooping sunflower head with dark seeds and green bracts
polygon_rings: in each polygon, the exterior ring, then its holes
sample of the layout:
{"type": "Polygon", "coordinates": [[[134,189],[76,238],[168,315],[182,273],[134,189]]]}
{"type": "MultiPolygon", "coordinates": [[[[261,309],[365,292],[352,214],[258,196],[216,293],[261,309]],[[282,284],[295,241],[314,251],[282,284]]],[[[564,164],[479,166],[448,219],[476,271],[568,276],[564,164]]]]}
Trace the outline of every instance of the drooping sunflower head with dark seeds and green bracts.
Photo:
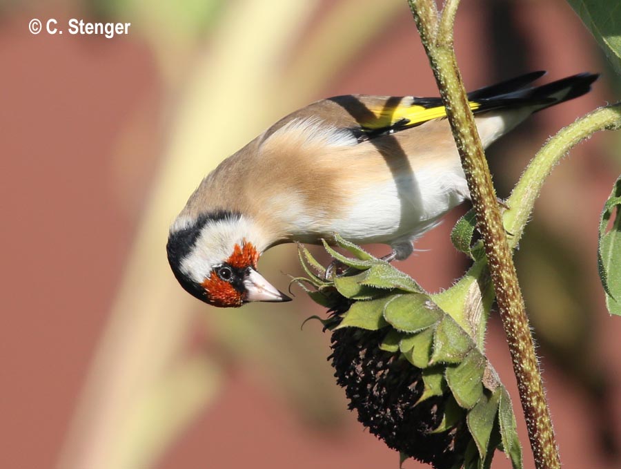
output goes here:
{"type": "MultiPolygon", "coordinates": [[[[469,245],[470,237],[464,233],[462,239],[469,245]]],[[[303,286],[308,291],[313,285],[311,297],[333,312],[323,321],[333,331],[331,358],[359,420],[402,456],[436,468],[489,468],[495,450],[522,468],[509,394],[477,345],[480,324],[461,310],[454,318],[438,305],[450,305],[451,294],[473,296],[482,269],[455,284],[454,292],[432,296],[388,262],[337,235],[335,242],[354,257],[326,243],[344,270],[329,280],[313,274],[311,269],[325,271],[300,247],[309,274],[303,286]],[[447,441],[453,451],[448,455],[447,441]]],[[[478,298],[482,303],[480,292],[478,298]]],[[[484,323],[486,315],[477,317],[484,323]]]]}

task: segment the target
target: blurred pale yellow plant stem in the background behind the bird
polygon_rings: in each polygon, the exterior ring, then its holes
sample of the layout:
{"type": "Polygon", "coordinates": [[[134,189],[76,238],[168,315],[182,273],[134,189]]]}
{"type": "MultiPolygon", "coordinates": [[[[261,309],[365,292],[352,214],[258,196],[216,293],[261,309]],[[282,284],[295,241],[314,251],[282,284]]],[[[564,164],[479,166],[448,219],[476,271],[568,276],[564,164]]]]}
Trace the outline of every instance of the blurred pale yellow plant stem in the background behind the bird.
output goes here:
{"type": "Polygon", "coordinates": [[[222,356],[257,363],[266,381],[289,393],[306,417],[331,421],[340,408],[339,393],[326,379],[330,373],[308,365],[317,363],[321,338],[294,337],[301,318],[290,310],[264,306],[247,314],[203,308],[209,334],[223,354],[190,350],[197,304],[170,274],[164,247],[168,224],[201,178],[274,119],[311,99],[404,5],[400,0],[339,2],[322,12],[306,48],[294,57],[293,45],[317,1],[163,3],[167,8],[153,9],[141,0],[88,3],[95,12],[139,26],[157,58],[169,94],[164,102],[173,105],[174,115],[61,453],[61,469],[153,466],[219,396],[227,364],[222,356]],[[302,79],[304,89],[297,87],[302,79]]]}

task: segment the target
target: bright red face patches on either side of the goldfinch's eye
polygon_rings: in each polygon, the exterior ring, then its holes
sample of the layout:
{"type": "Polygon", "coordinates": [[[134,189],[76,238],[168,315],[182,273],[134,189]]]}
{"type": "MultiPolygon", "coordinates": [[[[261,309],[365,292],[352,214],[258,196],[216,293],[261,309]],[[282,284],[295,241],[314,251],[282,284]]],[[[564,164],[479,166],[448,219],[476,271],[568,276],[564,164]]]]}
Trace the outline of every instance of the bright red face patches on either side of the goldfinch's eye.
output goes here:
{"type": "MultiPolygon", "coordinates": [[[[233,254],[229,256],[226,263],[234,269],[246,269],[246,267],[257,268],[259,253],[251,242],[242,242],[242,246],[235,245],[233,254]]],[[[222,280],[216,271],[212,271],[209,278],[206,278],[201,286],[207,292],[208,303],[218,307],[239,307],[244,304],[242,294],[226,280],[222,280]]]]}

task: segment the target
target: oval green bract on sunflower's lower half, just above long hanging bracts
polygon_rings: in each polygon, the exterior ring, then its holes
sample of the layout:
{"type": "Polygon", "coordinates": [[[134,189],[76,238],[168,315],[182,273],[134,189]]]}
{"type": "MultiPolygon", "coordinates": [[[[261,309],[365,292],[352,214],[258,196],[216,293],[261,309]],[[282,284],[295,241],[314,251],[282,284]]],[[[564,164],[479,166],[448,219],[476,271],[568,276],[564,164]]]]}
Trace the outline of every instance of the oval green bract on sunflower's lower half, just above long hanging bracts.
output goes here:
{"type": "Polygon", "coordinates": [[[455,367],[446,368],[446,383],[449,384],[455,401],[464,409],[471,409],[483,394],[483,372],[486,359],[478,350],[471,352],[455,367]]]}

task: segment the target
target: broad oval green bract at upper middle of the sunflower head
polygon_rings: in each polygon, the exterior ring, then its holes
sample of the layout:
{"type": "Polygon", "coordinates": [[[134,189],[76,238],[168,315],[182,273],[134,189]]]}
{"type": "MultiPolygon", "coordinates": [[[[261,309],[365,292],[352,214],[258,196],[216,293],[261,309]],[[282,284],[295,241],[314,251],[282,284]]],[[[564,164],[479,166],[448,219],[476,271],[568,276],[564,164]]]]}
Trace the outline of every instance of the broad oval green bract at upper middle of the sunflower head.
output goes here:
{"type": "Polygon", "coordinates": [[[434,325],[442,318],[440,309],[422,294],[398,295],[386,305],[384,319],[395,329],[405,332],[419,332],[434,325]]]}

